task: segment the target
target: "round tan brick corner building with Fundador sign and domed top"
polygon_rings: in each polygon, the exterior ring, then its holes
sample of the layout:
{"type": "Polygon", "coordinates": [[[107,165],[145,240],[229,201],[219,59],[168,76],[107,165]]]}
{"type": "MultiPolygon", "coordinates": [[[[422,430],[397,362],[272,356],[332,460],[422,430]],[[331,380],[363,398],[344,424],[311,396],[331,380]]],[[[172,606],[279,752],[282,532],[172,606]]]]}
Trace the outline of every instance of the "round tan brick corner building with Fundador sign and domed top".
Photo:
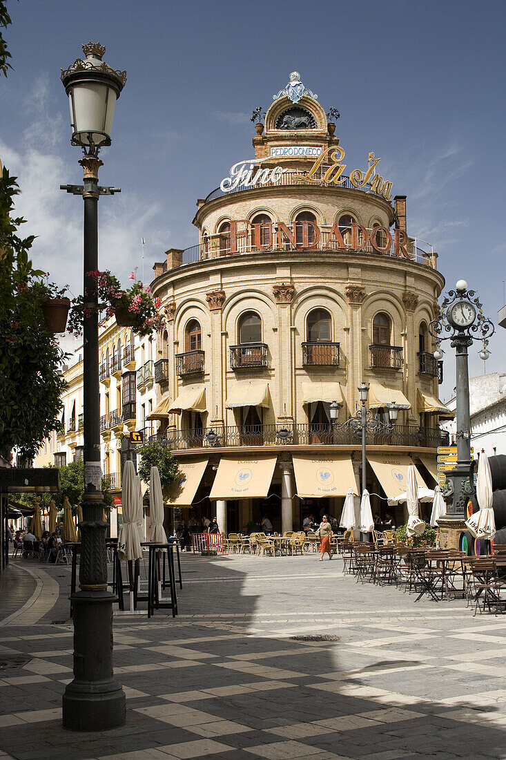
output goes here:
{"type": "Polygon", "coordinates": [[[362,483],[361,434],[343,423],[366,382],[372,418],[400,407],[367,437],[373,511],[393,511],[384,499],[406,489],[412,461],[434,486],[447,439],[428,332],[444,287],[438,255],[408,234],[406,197],[392,198],[374,154],[346,168],[297,72],[255,129],[255,160],[234,160],[197,201],[198,245],[154,265],[167,329],[151,419],[184,473],[171,502],[216,514],[226,532],[264,515],[283,531],[305,514],[339,518],[362,483]]]}

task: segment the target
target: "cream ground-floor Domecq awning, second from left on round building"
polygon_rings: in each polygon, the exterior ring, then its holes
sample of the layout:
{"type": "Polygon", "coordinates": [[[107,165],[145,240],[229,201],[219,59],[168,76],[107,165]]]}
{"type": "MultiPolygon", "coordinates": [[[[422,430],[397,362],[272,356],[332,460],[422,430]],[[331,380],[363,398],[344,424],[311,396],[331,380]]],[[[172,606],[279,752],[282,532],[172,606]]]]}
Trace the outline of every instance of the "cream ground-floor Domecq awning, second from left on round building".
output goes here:
{"type": "Polygon", "coordinates": [[[276,457],[221,459],[210,499],[265,499],[276,457]]]}

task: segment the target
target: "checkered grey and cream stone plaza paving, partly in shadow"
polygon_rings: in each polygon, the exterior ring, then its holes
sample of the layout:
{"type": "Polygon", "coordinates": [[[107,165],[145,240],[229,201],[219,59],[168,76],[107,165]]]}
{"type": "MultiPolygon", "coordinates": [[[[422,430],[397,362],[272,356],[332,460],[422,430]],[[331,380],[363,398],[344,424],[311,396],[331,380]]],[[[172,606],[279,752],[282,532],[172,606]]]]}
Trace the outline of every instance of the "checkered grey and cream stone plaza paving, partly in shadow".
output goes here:
{"type": "Polygon", "coordinates": [[[11,565],[0,760],[506,758],[504,618],[315,559],[183,555],[176,619],[115,617],[128,720],[97,733],[61,725],[70,568],[11,565]]]}

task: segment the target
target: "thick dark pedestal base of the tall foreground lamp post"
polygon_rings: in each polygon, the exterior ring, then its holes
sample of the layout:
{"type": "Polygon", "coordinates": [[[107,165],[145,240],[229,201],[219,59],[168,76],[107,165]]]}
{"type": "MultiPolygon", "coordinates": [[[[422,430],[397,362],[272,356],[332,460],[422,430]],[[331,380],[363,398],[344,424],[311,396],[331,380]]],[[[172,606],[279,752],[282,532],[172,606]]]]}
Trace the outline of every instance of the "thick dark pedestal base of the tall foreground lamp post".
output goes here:
{"type": "Polygon", "coordinates": [[[63,695],[63,727],[103,731],[125,725],[122,686],[112,674],[112,602],[109,591],[77,591],[74,609],[74,680],[63,695]]]}

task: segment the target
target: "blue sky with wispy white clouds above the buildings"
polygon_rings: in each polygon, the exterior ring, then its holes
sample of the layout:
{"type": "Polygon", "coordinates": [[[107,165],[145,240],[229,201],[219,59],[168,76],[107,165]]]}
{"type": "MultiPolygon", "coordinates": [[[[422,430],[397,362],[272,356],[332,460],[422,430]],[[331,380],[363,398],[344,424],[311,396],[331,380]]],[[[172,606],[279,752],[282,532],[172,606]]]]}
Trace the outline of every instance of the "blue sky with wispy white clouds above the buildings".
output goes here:
{"type": "MultiPolygon", "coordinates": [[[[494,0],[8,0],[13,71],[0,79],[0,159],[18,176],[33,261],[81,292],[81,184],[60,68],[91,40],[125,69],[112,145],[101,151],[100,268],[150,281],[169,248],[198,242],[197,198],[252,156],[250,122],[290,71],[327,110],[349,167],[381,157],[407,229],[431,243],[447,288],[463,277],[496,323],[504,305],[504,38],[494,0]],[[141,238],[145,239],[144,261],[141,238]]],[[[470,375],[484,371],[480,344],[470,375]]],[[[447,344],[441,398],[455,385],[447,344]]],[[[496,327],[486,372],[506,372],[496,327]]]]}

